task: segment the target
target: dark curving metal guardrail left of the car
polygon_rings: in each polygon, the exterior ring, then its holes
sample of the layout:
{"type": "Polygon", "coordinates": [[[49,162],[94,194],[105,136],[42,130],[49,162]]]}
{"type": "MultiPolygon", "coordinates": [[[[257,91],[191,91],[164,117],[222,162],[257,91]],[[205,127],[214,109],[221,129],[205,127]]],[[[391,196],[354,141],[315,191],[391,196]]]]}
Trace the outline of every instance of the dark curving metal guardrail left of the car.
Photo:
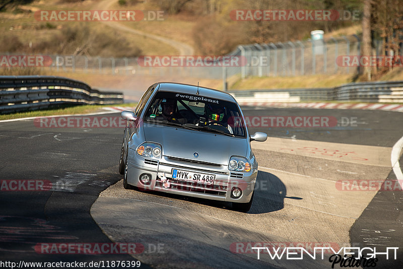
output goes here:
{"type": "Polygon", "coordinates": [[[0,76],[0,114],[69,103],[123,103],[123,93],[101,92],[81,81],[63,77],[0,76]]]}

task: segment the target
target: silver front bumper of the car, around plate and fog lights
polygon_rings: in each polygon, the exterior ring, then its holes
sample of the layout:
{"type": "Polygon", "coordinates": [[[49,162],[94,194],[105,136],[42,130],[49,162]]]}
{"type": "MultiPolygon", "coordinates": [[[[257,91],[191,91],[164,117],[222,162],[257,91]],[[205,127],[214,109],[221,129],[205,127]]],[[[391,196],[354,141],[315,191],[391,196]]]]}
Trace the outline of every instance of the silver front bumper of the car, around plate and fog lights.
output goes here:
{"type": "Polygon", "coordinates": [[[256,183],[257,168],[248,173],[229,171],[227,166],[189,163],[186,160],[172,159],[162,156],[152,159],[140,156],[134,150],[129,150],[127,158],[127,183],[144,190],[154,190],[175,193],[191,197],[212,200],[246,203],[249,202],[256,183]],[[196,184],[172,179],[172,170],[215,175],[213,185],[196,184]],[[151,176],[151,184],[144,185],[139,179],[143,174],[151,176]],[[169,181],[169,187],[164,187],[161,177],[169,181]],[[239,188],[242,194],[239,198],[231,197],[233,188],[239,188]]]}

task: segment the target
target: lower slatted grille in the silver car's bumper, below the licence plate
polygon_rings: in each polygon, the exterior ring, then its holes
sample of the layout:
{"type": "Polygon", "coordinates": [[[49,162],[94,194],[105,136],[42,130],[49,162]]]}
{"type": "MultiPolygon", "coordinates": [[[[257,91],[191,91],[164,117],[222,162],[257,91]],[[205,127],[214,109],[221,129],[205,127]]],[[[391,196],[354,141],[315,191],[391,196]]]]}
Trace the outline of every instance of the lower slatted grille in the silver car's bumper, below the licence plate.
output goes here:
{"type": "MultiPolygon", "coordinates": [[[[171,190],[181,190],[181,191],[188,191],[188,192],[198,192],[198,193],[206,193],[206,194],[213,194],[221,197],[225,197],[227,195],[227,188],[228,184],[223,183],[223,185],[216,185],[213,186],[205,186],[204,184],[177,180],[169,178],[171,190]]],[[[163,183],[160,179],[157,179],[155,183],[156,187],[164,188],[163,183]]]]}

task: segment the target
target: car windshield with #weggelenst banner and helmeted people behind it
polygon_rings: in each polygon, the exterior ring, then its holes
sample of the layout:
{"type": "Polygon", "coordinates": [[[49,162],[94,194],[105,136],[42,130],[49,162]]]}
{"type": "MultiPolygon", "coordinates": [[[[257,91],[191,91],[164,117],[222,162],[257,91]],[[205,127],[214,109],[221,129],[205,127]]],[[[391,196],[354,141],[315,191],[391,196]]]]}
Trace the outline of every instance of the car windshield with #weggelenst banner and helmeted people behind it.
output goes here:
{"type": "Polygon", "coordinates": [[[144,122],[234,137],[246,136],[236,103],[201,95],[160,91],[147,108],[144,122]]]}

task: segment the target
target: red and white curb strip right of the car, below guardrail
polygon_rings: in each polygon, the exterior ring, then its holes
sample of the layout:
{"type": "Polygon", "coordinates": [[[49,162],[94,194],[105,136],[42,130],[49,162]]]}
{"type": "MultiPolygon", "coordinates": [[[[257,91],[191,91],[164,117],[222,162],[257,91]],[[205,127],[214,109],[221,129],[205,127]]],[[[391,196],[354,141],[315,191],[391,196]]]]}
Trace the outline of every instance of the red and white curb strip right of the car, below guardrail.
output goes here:
{"type": "Polygon", "coordinates": [[[300,109],[338,109],[338,110],[382,110],[403,112],[403,104],[385,103],[283,103],[283,102],[239,102],[239,105],[259,107],[296,107],[300,109]]]}

